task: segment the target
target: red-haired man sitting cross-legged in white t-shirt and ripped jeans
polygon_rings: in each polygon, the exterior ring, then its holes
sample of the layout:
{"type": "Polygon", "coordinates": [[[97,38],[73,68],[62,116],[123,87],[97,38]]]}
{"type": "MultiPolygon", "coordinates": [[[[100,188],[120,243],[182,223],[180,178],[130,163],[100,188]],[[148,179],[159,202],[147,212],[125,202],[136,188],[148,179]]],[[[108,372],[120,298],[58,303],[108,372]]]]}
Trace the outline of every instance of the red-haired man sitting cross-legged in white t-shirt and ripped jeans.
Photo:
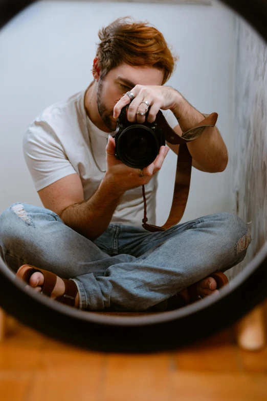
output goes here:
{"type": "MultiPolygon", "coordinates": [[[[177,153],[179,146],[162,146],[140,176],[116,158],[112,136],[106,145],[128,103],[128,121],[151,123],[162,109],[180,135],[205,117],[163,86],[176,58],[157,29],[120,18],[99,38],[91,85],[48,107],[28,128],[25,158],[44,208],[15,203],[2,213],[2,257],[28,287],[81,309],[146,310],[196,282],[200,296],[218,293],[209,274],[244,258],[247,224],[219,213],[145,231],[142,185],[154,224],[157,172],[169,148],[177,153]],[[50,291],[44,277],[54,280],[50,291]]],[[[227,149],[216,127],[187,146],[198,170],[225,170],[227,149]]]]}

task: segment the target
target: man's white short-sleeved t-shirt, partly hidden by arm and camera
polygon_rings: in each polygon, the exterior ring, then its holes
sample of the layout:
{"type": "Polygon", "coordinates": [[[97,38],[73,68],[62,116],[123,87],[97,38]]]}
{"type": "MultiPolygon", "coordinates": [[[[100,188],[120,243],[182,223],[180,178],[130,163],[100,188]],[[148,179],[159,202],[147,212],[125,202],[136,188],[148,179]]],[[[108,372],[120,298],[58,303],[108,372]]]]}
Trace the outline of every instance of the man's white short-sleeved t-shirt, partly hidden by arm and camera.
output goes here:
{"type": "MultiPolygon", "coordinates": [[[[36,191],[67,175],[77,173],[81,179],[84,199],[98,188],[106,169],[106,138],[108,133],[98,129],[84,109],[85,91],[76,93],[64,102],[55,103],[31,122],[24,135],[23,150],[36,191]],[[90,147],[90,138],[93,149],[90,147]]],[[[162,110],[169,125],[178,123],[170,110],[162,110]]],[[[145,186],[147,217],[155,224],[155,193],[157,174],[145,186]]],[[[124,193],[111,223],[142,226],[144,214],[142,186],[124,193]]]]}

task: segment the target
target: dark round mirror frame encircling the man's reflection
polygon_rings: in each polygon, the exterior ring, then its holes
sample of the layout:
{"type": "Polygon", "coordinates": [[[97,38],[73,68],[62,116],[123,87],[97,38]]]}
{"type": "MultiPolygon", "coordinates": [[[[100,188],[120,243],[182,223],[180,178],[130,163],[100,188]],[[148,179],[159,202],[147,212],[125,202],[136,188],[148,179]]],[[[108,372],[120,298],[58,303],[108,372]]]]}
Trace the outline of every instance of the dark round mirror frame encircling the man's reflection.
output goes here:
{"type": "MultiPolygon", "coordinates": [[[[0,28],[30,0],[0,0],[0,28]]],[[[267,1],[221,0],[267,42],[267,1]]],[[[230,327],[267,297],[267,243],[217,297],[147,316],[87,313],[29,293],[0,258],[0,306],[20,322],[65,343],[104,352],[177,349],[230,327]]]]}

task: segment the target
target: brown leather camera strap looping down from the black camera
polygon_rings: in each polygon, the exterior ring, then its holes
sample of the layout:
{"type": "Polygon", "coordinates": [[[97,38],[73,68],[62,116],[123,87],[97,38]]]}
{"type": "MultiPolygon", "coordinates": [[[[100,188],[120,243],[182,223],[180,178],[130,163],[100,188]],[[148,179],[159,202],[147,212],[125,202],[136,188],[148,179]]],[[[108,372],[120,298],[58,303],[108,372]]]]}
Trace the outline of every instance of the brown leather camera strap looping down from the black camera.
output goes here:
{"type": "Polygon", "coordinates": [[[147,224],[145,186],[143,185],[142,187],[144,198],[144,218],[142,226],[147,231],[165,231],[178,224],[183,217],[189,194],[192,169],[192,156],[189,153],[186,144],[187,142],[194,141],[194,139],[202,135],[206,127],[214,127],[218,118],[217,113],[203,114],[203,116],[206,117],[203,121],[190,130],[183,132],[183,135],[180,136],[169,126],[161,110],[157,114],[155,122],[157,123],[158,128],[164,133],[166,141],[169,144],[180,146],[177,156],[171,210],[167,222],[162,227],[147,224]]]}

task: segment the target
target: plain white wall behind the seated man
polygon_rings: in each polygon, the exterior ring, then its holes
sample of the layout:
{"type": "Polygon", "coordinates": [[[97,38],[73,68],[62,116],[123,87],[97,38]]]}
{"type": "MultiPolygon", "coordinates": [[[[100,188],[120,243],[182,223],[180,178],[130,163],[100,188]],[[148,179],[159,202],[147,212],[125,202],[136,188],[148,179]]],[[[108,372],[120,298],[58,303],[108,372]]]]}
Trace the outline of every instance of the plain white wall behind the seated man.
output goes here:
{"type": "MultiPolygon", "coordinates": [[[[234,23],[230,11],[217,4],[42,1],[0,32],[0,213],[14,202],[41,206],[24,162],[24,132],[48,105],[86,88],[92,79],[99,28],[125,15],[147,19],[163,32],[180,55],[168,84],[198,110],[218,112],[217,126],[231,152],[234,23]]],[[[171,204],[175,174],[171,153],[159,177],[160,224],[171,204]]],[[[231,211],[231,179],[230,166],[219,174],[194,170],[183,220],[231,211]]]]}

